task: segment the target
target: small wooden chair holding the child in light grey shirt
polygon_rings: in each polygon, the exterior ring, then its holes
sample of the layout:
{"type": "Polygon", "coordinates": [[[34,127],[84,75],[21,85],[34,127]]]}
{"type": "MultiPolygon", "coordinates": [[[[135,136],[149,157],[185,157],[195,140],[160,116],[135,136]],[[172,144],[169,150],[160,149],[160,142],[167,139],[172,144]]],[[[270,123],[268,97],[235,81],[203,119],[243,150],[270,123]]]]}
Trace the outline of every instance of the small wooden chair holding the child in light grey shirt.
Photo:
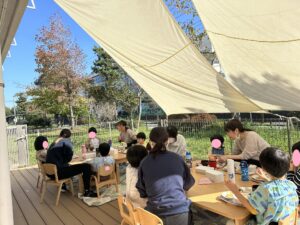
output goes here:
{"type": "Polygon", "coordinates": [[[113,165],[104,165],[99,167],[97,175],[91,177],[95,181],[97,197],[100,197],[99,189],[114,184],[116,186],[116,191],[119,192],[118,181],[115,171],[115,164],[113,165]],[[109,177],[108,180],[101,181],[101,177],[109,177]]]}

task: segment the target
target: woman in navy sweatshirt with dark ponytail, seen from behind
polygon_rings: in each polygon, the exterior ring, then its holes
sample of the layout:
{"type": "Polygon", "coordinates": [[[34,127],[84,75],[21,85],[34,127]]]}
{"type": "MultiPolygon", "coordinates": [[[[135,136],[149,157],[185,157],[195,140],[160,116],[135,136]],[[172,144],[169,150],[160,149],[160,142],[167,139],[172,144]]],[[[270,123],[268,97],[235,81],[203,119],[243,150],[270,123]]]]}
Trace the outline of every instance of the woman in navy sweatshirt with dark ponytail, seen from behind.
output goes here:
{"type": "Polygon", "coordinates": [[[141,162],[138,189],[142,198],[148,198],[146,209],[159,216],[164,225],[188,225],[190,200],[185,191],[195,180],[183,158],[167,151],[168,133],[156,127],[150,133],[150,154],[141,162]]]}

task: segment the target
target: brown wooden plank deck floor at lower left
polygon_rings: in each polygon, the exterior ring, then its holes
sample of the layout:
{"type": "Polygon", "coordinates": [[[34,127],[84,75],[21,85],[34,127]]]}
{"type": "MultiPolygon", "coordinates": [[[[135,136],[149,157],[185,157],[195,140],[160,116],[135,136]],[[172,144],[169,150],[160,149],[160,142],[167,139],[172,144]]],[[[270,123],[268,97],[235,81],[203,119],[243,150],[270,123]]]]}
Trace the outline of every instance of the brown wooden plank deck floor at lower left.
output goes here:
{"type": "Polygon", "coordinates": [[[15,225],[117,225],[121,217],[116,201],[100,207],[88,207],[70,193],[62,193],[55,206],[55,187],[48,187],[45,201],[40,204],[36,188],[37,169],[11,172],[15,225]]]}

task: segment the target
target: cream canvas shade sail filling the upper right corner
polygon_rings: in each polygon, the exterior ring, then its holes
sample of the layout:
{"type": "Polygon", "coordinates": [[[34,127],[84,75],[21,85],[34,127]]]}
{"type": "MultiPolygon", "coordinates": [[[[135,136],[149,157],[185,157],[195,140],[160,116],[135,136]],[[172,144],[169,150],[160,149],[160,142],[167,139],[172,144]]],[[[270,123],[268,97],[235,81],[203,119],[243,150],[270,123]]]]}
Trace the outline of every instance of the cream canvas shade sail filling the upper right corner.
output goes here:
{"type": "Polygon", "coordinates": [[[228,81],[265,110],[300,110],[300,1],[193,2],[228,81]]]}

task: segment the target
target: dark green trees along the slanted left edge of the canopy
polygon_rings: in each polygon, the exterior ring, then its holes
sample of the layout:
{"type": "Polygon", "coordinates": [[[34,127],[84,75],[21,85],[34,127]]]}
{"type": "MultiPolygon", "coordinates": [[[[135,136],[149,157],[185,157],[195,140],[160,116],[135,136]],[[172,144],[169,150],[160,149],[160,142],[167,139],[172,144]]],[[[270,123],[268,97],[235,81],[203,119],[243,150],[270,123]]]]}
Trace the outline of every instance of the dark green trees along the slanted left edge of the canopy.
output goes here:
{"type": "MultiPolygon", "coordinates": [[[[89,88],[90,96],[98,103],[116,104],[132,115],[139,104],[141,88],[101,47],[93,49],[97,59],[92,67],[98,83],[89,88]]],[[[94,82],[94,81],[92,81],[94,82]]]]}

